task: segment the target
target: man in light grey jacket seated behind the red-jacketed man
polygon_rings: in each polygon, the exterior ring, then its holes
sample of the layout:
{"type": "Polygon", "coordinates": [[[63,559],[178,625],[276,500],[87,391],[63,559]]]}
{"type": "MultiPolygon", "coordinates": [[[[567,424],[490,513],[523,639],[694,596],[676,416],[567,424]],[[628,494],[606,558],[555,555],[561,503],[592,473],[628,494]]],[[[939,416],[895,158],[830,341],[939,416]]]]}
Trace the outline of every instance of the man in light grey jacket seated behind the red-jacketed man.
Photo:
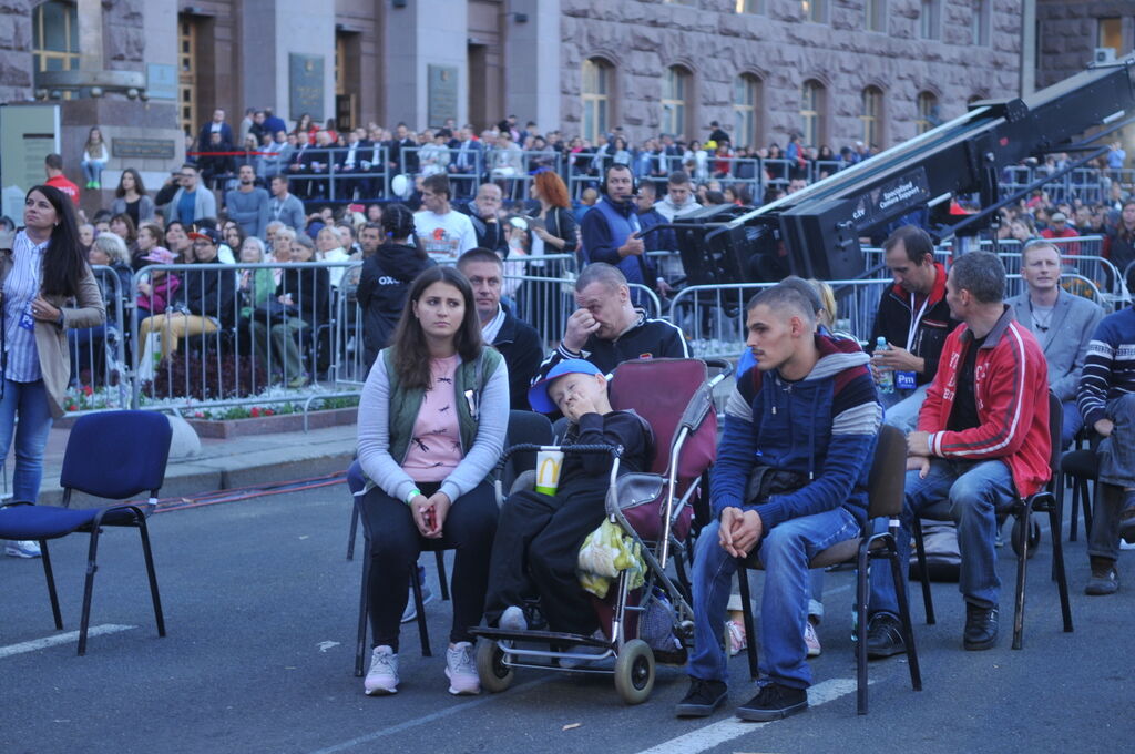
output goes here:
{"type": "Polygon", "coordinates": [[[1100,305],[1060,287],[1060,251],[1046,238],[1025,244],[1020,277],[1027,290],[1007,302],[1014,316],[1036,336],[1049,363],[1049,389],[1063,404],[1061,447],[1071,445],[1084,426],[1076,407],[1087,344],[1103,318],[1100,305]]]}

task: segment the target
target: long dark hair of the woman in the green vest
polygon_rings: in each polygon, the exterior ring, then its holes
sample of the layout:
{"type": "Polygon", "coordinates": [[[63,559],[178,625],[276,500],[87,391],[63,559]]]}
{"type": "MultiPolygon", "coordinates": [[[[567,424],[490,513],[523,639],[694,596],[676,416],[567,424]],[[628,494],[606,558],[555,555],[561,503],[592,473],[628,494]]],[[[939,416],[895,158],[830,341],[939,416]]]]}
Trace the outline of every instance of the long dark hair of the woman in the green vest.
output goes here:
{"type": "Polygon", "coordinates": [[[473,303],[473,286],[464,275],[447,265],[429,267],[421,271],[410,284],[406,305],[402,309],[402,319],[394,330],[394,369],[398,382],[409,388],[429,389],[430,355],[426,345],[426,334],[421,322],[414,317],[414,303],[421,299],[426,288],[435,283],[446,283],[461,292],[465,302],[465,315],[461,327],[453,336],[453,344],[462,361],[473,361],[481,352],[481,322],[477,318],[477,305],[473,303]]]}

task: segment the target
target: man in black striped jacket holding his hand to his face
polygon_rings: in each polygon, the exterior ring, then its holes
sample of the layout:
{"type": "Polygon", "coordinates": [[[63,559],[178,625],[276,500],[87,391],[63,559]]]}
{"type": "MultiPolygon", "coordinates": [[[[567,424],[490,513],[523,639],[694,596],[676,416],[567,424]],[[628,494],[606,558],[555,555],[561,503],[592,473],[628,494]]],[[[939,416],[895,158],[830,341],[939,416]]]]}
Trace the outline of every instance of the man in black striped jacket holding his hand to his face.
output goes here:
{"type": "Polygon", "coordinates": [[[586,359],[608,374],[630,359],[690,355],[680,329],[634,308],[617,267],[603,262],[585,267],[575,279],[575,303],[579,309],[568,318],[560,345],[540,365],[539,379],[564,359],[586,359]]]}

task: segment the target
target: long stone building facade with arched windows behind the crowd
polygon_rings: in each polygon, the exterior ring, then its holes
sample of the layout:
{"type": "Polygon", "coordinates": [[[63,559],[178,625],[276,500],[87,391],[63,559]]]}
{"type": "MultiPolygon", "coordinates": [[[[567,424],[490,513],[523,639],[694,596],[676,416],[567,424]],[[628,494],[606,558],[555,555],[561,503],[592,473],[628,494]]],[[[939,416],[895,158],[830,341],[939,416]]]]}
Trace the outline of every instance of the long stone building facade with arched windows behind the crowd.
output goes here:
{"type": "MultiPolygon", "coordinates": [[[[622,125],[631,142],[705,137],[717,120],[734,143],[805,133],[885,148],[1015,95],[1034,1],[5,0],[0,102],[53,93],[37,85],[33,39],[50,6],[77,25],[75,68],[146,81],[136,100],[64,103],[65,152],[84,123],[195,133],[213,108],[235,125],[247,106],[411,128],[514,114],[568,136],[622,125]]],[[[1042,2],[1042,26],[1063,5],[1077,3],[1042,2]]],[[[1052,76],[1075,67],[1068,52],[1052,76]]]]}

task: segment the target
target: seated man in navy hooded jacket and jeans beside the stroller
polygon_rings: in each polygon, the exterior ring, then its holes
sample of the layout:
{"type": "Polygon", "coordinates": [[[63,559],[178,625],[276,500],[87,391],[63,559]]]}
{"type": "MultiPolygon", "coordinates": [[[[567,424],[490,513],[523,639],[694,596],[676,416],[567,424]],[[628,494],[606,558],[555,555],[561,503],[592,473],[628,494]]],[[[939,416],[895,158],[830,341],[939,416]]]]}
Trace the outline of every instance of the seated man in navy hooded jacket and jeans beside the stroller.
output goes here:
{"type": "Polygon", "coordinates": [[[712,714],[728,696],[721,646],[738,558],[765,568],[757,695],[742,720],[777,720],[808,709],[808,561],[859,536],[867,521],[867,475],[882,408],[852,341],[816,332],[812,303],[775,285],[746,310],[757,365],[738,376],[709,484],[715,520],[701,529],[693,561],[690,690],[679,717],[712,714]]]}

